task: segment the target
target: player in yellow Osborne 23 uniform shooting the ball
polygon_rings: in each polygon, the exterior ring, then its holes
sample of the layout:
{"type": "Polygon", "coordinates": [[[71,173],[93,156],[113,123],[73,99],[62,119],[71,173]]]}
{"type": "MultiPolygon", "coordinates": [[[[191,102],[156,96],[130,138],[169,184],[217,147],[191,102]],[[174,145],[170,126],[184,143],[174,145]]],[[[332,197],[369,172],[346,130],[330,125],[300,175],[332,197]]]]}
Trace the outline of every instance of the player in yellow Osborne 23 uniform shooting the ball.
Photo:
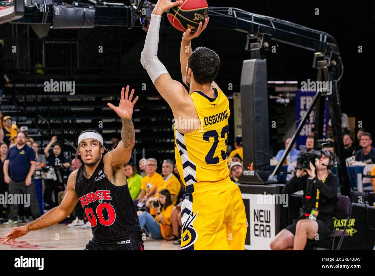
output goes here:
{"type": "Polygon", "coordinates": [[[157,58],[163,12],[183,1],[159,0],[141,53],[141,63],[172,109],[175,119],[175,158],[186,185],[181,206],[183,250],[244,250],[245,206],[226,164],[229,103],[214,83],[220,65],[217,54],[205,47],[192,52],[190,41],[207,26],[187,29],[181,43],[183,84],[172,80],[157,58]],[[196,123],[198,122],[198,123],[196,123]]]}

